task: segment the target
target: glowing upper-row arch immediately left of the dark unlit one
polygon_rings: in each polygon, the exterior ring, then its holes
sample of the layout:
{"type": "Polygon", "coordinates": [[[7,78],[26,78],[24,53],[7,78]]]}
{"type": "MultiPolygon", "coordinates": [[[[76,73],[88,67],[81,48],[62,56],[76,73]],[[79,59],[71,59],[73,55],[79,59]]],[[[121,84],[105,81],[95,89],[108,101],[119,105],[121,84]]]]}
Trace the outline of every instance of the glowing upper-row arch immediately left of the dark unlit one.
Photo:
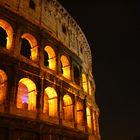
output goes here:
{"type": "Polygon", "coordinates": [[[70,62],[65,55],[61,56],[61,72],[64,77],[70,79],[70,62]]]}

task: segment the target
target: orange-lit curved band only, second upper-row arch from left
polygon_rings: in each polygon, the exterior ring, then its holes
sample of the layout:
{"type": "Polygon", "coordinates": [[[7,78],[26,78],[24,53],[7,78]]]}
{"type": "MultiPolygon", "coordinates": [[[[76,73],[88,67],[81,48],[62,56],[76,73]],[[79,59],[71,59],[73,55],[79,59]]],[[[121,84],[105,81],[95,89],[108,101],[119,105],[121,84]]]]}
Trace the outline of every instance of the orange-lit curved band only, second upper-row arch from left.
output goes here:
{"type": "Polygon", "coordinates": [[[29,33],[25,33],[21,36],[22,39],[27,39],[28,42],[31,45],[31,59],[33,61],[37,61],[37,56],[38,56],[38,45],[37,45],[37,41],[34,38],[34,36],[32,36],[29,33]]]}

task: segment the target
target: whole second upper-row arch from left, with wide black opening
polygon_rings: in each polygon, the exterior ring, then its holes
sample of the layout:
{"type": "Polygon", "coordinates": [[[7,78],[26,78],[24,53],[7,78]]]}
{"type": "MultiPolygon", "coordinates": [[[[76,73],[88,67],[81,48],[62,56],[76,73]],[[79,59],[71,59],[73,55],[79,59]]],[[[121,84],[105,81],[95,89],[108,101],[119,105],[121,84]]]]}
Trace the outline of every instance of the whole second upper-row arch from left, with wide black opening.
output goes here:
{"type": "Polygon", "coordinates": [[[29,33],[24,33],[21,36],[21,55],[37,61],[38,45],[34,36],[29,33]]]}

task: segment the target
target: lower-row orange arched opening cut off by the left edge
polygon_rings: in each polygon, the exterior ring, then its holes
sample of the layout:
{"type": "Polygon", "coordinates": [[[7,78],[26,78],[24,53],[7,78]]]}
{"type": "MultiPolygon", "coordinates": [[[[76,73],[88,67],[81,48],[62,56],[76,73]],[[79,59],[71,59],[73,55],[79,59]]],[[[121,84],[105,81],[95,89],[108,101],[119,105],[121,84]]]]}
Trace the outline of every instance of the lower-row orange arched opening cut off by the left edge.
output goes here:
{"type": "Polygon", "coordinates": [[[6,73],[0,69],[0,104],[4,102],[7,90],[7,76],[6,73]]]}

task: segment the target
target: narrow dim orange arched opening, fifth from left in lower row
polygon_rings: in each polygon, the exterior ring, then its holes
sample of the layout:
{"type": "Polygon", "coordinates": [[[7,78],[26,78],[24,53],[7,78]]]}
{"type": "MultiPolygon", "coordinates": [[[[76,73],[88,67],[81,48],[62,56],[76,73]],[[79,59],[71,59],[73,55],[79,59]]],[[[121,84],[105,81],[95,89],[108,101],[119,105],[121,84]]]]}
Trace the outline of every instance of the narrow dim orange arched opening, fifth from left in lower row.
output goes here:
{"type": "Polygon", "coordinates": [[[77,124],[84,125],[84,108],[82,102],[77,101],[76,109],[77,109],[77,124]]]}

